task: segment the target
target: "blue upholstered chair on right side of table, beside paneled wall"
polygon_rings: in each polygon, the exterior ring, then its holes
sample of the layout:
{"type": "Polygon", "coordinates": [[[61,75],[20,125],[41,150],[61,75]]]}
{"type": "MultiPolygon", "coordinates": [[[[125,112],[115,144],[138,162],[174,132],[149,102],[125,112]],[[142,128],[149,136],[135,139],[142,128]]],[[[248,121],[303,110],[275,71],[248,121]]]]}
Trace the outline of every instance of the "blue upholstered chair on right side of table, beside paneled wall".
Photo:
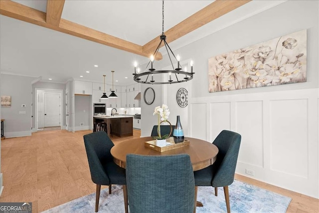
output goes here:
{"type": "Polygon", "coordinates": [[[214,140],[218,147],[215,163],[205,169],[194,172],[196,186],[223,187],[227,213],[230,213],[228,186],[234,182],[241,136],[238,133],[223,130],[214,140]]]}

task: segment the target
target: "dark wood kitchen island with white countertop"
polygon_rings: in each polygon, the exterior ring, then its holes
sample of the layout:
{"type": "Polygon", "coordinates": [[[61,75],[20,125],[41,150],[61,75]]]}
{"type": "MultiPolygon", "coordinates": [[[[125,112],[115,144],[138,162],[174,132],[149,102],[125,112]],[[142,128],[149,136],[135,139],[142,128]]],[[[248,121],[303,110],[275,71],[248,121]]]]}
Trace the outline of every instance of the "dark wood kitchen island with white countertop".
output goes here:
{"type": "Polygon", "coordinates": [[[133,136],[133,116],[132,115],[96,115],[93,116],[93,123],[105,122],[107,124],[107,132],[110,136],[112,126],[112,134],[118,137],[133,136]]]}

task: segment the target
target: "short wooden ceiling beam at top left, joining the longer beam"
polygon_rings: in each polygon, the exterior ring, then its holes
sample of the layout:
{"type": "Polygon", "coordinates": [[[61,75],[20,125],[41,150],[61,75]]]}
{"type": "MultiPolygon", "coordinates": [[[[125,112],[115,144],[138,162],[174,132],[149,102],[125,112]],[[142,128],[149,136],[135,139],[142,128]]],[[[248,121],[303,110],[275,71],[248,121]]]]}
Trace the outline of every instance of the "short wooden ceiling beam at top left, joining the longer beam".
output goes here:
{"type": "Polygon", "coordinates": [[[61,20],[64,0],[47,0],[46,23],[58,26],[61,20]]]}

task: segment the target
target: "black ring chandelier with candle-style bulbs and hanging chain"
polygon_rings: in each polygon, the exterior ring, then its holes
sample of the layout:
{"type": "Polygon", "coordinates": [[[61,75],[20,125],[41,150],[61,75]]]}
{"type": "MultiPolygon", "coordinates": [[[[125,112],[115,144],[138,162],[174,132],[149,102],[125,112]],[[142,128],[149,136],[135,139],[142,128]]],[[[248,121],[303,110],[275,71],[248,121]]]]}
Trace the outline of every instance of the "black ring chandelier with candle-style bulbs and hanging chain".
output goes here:
{"type": "Polygon", "coordinates": [[[193,79],[193,62],[190,62],[190,72],[187,72],[187,70],[183,69],[179,65],[180,56],[175,56],[173,51],[170,49],[166,42],[166,35],[164,34],[164,0],[162,0],[162,33],[160,35],[160,44],[156,48],[153,55],[151,55],[150,61],[148,65],[146,66],[144,72],[140,73],[140,68],[137,68],[138,63],[134,63],[134,80],[139,83],[144,84],[172,84],[172,83],[180,83],[185,82],[193,79]],[[165,49],[167,51],[167,55],[170,61],[170,64],[172,66],[171,70],[156,70],[154,65],[154,58],[157,56],[159,49],[161,45],[165,46],[165,49]],[[170,52],[170,53],[169,53],[170,52]],[[177,62],[177,68],[174,68],[172,58],[174,58],[177,62]],[[149,68],[151,64],[151,68],[149,68]],[[149,68],[149,69],[148,69],[149,68]],[[147,71],[148,70],[148,71],[147,71]],[[169,80],[165,81],[164,78],[162,78],[162,75],[169,74],[169,80]],[[173,74],[173,76],[171,75],[173,74]],[[150,77],[151,75],[151,77],[150,77]],[[154,75],[160,75],[160,80],[154,80],[154,75]]]}

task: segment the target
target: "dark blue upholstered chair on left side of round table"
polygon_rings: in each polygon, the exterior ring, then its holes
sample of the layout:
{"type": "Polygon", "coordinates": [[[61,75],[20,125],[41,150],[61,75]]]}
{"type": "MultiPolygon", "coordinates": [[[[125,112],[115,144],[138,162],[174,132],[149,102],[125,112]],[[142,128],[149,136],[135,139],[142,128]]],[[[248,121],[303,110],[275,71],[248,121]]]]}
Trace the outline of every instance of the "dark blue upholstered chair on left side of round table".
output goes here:
{"type": "Polygon", "coordinates": [[[128,213],[125,169],[113,162],[111,148],[113,142],[105,131],[84,135],[84,145],[88,156],[91,179],[96,184],[95,212],[99,211],[101,185],[109,186],[111,194],[112,184],[123,185],[125,212],[128,213]]]}

